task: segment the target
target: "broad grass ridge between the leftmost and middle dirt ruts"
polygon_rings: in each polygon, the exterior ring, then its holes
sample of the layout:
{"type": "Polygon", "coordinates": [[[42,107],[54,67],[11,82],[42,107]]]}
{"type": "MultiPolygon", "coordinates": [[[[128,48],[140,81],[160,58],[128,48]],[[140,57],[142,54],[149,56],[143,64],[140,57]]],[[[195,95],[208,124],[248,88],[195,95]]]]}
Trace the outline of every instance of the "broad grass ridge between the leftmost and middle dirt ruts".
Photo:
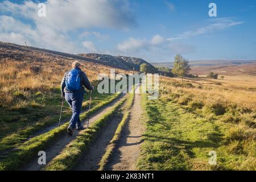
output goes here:
{"type": "Polygon", "coordinates": [[[102,127],[106,125],[109,119],[125,101],[126,98],[121,102],[118,102],[113,109],[104,114],[100,119],[94,122],[89,129],[85,130],[83,134],[79,135],[75,140],[68,144],[60,155],[56,156],[47,164],[44,170],[71,170],[84,151],[88,149],[92,140],[97,137],[97,134],[102,127]]]}

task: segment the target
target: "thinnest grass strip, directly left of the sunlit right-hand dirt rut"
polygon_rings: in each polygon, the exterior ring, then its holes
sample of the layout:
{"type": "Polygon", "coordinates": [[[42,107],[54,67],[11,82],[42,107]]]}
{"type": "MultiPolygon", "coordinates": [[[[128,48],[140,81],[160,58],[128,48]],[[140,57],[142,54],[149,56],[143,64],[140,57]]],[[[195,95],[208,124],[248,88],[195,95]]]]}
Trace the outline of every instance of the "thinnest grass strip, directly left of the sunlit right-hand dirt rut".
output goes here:
{"type": "Polygon", "coordinates": [[[126,105],[127,111],[123,115],[122,121],[119,123],[117,130],[115,131],[114,137],[109,142],[109,145],[106,148],[105,154],[102,156],[102,159],[99,164],[99,166],[100,166],[100,168],[98,169],[99,171],[102,171],[105,169],[106,165],[109,162],[110,157],[113,154],[115,147],[117,146],[117,142],[118,142],[119,138],[121,137],[121,133],[123,131],[123,128],[125,127],[125,123],[126,123],[127,119],[129,118],[130,107],[131,107],[131,105],[133,105],[133,101],[134,101],[134,94],[130,94],[129,100],[127,101],[127,105],[126,105]]]}

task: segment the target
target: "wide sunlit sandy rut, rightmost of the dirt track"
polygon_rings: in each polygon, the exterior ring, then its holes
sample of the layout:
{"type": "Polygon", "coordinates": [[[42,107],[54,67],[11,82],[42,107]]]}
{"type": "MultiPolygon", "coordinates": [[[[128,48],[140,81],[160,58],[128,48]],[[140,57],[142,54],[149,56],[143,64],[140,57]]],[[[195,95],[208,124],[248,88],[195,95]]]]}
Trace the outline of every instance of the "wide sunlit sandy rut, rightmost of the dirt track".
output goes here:
{"type": "Polygon", "coordinates": [[[144,125],[142,123],[142,113],[141,95],[135,94],[130,119],[126,123],[122,136],[119,139],[118,147],[114,150],[106,170],[136,170],[137,159],[141,152],[140,146],[143,142],[144,125]]]}

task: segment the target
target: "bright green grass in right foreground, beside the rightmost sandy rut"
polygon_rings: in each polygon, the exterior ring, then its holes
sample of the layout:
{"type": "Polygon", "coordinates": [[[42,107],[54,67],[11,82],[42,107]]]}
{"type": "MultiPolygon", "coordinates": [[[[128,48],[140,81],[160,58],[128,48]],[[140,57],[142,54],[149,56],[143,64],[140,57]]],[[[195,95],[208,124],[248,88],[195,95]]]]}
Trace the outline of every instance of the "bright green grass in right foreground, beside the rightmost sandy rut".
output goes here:
{"type": "Polygon", "coordinates": [[[255,170],[255,130],[190,112],[171,100],[147,100],[146,133],[137,167],[142,170],[255,170]],[[241,130],[237,130],[241,127],[241,130]],[[233,128],[233,129],[232,129],[233,128]],[[217,165],[210,165],[210,151],[217,165]]]}

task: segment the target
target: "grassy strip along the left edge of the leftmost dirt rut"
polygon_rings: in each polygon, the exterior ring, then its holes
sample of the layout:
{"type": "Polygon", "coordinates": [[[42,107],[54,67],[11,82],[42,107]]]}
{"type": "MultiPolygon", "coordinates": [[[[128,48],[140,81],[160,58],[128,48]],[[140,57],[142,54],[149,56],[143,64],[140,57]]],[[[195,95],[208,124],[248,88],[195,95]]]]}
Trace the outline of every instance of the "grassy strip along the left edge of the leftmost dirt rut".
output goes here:
{"type": "MultiPolygon", "coordinates": [[[[102,101],[100,104],[90,110],[90,114],[95,113],[98,109],[104,107],[106,104],[109,104],[118,96],[119,94],[115,94],[115,97],[112,99],[102,101]]],[[[88,112],[80,115],[82,120],[86,119],[87,117],[88,112]]],[[[24,142],[21,146],[18,146],[15,150],[10,151],[8,156],[0,160],[0,170],[18,169],[22,164],[36,156],[38,151],[43,150],[44,147],[48,146],[60,135],[64,134],[67,126],[68,123],[65,123],[64,125],[60,126],[60,128],[55,128],[45,134],[31,138],[27,142],[24,142]]]]}

